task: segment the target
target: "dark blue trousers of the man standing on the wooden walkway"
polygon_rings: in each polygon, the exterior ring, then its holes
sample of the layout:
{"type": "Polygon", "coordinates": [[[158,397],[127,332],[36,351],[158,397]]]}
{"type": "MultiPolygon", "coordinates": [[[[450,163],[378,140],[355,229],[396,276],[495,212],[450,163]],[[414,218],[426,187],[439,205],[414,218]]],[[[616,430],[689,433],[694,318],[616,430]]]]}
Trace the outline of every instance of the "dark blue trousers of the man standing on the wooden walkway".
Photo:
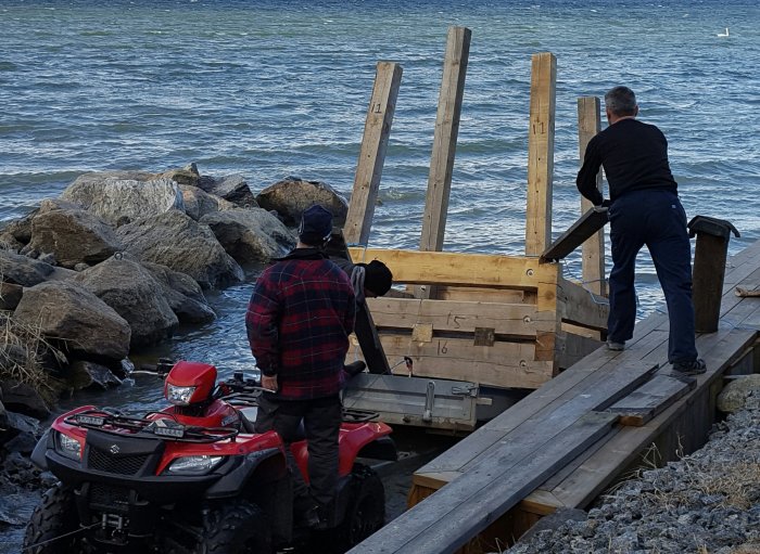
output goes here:
{"type": "Polygon", "coordinates": [[[617,198],[609,208],[612,271],[607,338],[624,343],[636,321],[636,256],[644,245],[655,262],[670,319],[668,361],[697,359],[692,301],[692,249],[686,212],[676,194],[649,189],[617,198]]]}

